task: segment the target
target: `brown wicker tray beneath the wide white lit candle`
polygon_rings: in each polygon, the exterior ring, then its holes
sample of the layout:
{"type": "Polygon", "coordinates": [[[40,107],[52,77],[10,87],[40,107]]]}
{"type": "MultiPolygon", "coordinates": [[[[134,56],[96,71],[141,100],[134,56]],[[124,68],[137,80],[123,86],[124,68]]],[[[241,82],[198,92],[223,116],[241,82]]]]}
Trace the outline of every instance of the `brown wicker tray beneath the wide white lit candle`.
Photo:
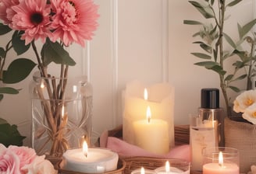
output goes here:
{"type": "MultiPolygon", "coordinates": [[[[119,161],[117,163],[117,169],[110,171],[110,172],[104,172],[105,174],[122,174],[124,173],[124,169],[126,167],[126,162],[123,159],[119,158],[119,161]]],[[[85,172],[73,172],[66,169],[61,169],[59,167],[59,174],[91,174],[91,173],[85,173],[85,172]]]]}

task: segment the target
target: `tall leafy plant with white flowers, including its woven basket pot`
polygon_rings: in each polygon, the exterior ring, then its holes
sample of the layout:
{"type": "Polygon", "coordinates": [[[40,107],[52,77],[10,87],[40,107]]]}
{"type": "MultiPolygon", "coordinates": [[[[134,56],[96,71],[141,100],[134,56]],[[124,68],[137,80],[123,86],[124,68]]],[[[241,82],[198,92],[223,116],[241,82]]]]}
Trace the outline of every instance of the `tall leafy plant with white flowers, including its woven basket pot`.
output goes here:
{"type": "Polygon", "coordinates": [[[244,26],[237,23],[237,40],[232,39],[229,33],[224,30],[226,20],[231,17],[226,12],[229,8],[238,5],[239,2],[242,2],[242,0],[189,1],[201,13],[206,23],[197,20],[184,20],[184,23],[201,26],[201,29],[193,35],[193,37],[200,38],[193,44],[199,45],[203,50],[202,52],[192,53],[202,60],[195,64],[219,75],[219,85],[225,100],[226,116],[228,117],[224,126],[225,145],[239,150],[240,172],[248,172],[251,165],[254,165],[256,161],[256,155],[254,155],[256,151],[253,148],[256,145],[256,125],[251,124],[254,123],[251,120],[249,120],[251,123],[230,120],[234,112],[233,101],[230,101],[228,90],[234,92],[245,91],[237,96],[234,101],[234,110],[239,113],[244,112],[243,115],[246,116],[244,117],[246,120],[247,117],[254,117],[255,119],[256,110],[250,108],[250,112],[247,112],[242,103],[247,102],[248,105],[256,108],[256,105],[253,105],[256,102],[256,91],[250,90],[252,86],[251,78],[256,75],[254,54],[256,37],[255,33],[251,32],[256,19],[251,20],[244,26]],[[231,49],[227,49],[230,46],[231,49]],[[232,63],[227,64],[227,60],[232,63]],[[230,66],[232,72],[230,72],[230,66]],[[240,80],[245,81],[244,86],[247,86],[246,88],[243,89],[243,87],[234,85],[234,82],[240,80]]]}

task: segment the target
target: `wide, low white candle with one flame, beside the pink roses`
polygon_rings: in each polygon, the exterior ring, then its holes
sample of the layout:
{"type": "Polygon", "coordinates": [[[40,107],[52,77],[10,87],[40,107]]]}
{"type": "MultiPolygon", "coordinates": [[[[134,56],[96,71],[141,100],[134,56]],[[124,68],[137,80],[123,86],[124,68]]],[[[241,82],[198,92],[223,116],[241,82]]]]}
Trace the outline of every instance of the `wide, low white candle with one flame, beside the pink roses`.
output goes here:
{"type": "Polygon", "coordinates": [[[100,173],[116,170],[118,155],[103,148],[83,148],[67,150],[62,156],[62,169],[73,172],[100,173]]]}

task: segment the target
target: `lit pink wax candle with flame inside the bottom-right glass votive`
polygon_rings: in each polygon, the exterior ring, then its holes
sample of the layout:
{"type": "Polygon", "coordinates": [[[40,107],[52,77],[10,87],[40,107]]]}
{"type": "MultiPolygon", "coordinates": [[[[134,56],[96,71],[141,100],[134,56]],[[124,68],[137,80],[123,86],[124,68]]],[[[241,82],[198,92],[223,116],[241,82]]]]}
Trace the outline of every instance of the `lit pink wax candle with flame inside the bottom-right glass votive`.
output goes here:
{"type": "Polygon", "coordinates": [[[220,151],[219,162],[203,165],[203,174],[239,174],[239,167],[235,163],[224,163],[222,151],[220,151]]]}

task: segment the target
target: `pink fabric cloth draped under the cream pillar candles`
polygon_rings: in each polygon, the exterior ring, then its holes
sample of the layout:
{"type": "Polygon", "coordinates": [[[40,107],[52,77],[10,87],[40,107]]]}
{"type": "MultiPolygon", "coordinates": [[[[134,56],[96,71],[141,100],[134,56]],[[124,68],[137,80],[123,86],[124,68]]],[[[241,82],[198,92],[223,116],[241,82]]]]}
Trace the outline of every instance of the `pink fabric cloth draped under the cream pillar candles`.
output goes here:
{"type": "Polygon", "coordinates": [[[145,151],[136,145],[129,144],[117,137],[108,137],[108,134],[104,132],[100,138],[101,148],[109,148],[112,151],[116,151],[120,156],[145,156],[154,158],[182,158],[190,162],[190,145],[184,144],[172,148],[169,153],[165,155],[156,155],[151,152],[145,151]]]}

